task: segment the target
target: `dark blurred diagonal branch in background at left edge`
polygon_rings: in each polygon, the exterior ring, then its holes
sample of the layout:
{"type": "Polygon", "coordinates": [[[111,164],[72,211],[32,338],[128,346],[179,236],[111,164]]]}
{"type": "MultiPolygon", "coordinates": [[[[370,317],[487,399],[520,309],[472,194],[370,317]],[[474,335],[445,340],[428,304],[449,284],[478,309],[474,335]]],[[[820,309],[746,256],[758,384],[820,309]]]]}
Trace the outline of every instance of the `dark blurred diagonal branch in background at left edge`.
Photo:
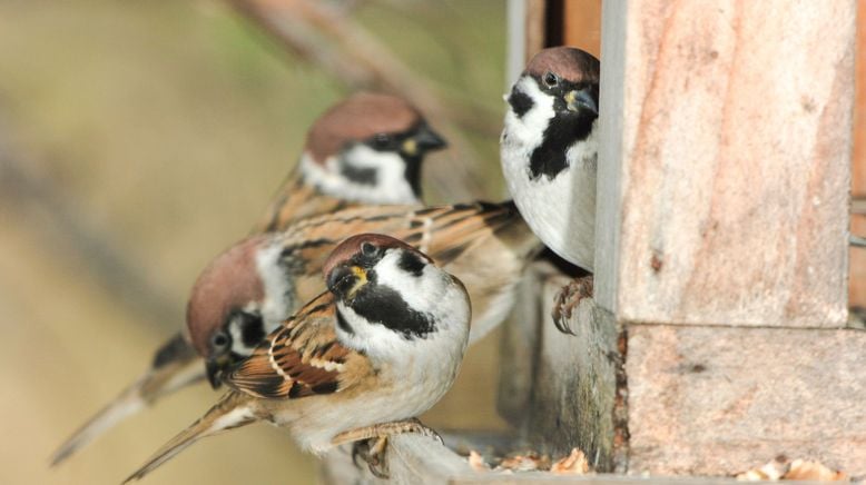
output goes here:
{"type": "Polygon", "coordinates": [[[150,281],[128,255],[77,210],[77,204],[49,178],[36,174],[38,161],[12,146],[9,126],[0,112],[0,204],[27,215],[33,229],[51,249],[66,247],[80,255],[101,286],[130,310],[147,315],[166,327],[177,327],[183,301],[150,281]]]}

